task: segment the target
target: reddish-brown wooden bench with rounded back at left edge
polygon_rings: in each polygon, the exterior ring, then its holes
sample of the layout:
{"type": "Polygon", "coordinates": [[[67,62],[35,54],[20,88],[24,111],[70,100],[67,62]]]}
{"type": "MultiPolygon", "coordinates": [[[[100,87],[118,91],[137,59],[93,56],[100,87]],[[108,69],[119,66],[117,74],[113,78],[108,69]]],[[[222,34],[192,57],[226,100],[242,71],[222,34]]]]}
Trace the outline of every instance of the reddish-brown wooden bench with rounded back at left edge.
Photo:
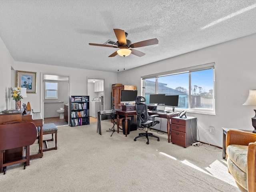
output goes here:
{"type": "Polygon", "coordinates": [[[0,172],[5,174],[6,166],[23,162],[25,169],[30,164],[30,145],[35,142],[36,137],[36,126],[32,122],[0,125],[0,172]],[[22,153],[15,158],[13,153],[8,154],[9,157],[5,155],[8,150],[23,147],[26,147],[26,156],[23,156],[22,153]]]}

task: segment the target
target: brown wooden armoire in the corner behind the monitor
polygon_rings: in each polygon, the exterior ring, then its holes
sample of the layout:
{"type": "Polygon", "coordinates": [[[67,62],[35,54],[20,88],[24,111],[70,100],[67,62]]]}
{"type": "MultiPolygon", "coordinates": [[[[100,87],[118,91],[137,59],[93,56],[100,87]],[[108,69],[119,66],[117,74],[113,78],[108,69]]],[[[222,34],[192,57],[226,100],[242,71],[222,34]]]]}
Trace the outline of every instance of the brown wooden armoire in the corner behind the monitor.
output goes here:
{"type": "Polygon", "coordinates": [[[136,86],[122,84],[112,85],[112,99],[114,98],[113,103],[115,109],[122,109],[123,104],[121,104],[121,90],[136,90],[136,86]]]}

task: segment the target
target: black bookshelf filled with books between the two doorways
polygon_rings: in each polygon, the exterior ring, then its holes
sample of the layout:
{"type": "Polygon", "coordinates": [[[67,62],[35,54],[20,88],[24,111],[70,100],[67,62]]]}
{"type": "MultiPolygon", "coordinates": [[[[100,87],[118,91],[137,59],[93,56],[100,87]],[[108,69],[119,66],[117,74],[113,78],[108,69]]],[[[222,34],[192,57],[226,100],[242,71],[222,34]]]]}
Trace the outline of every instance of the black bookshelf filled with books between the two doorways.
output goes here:
{"type": "Polygon", "coordinates": [[[80,126],[90,124],[90,102],[89,96],[70,96],[69,97],[69,125],[80,126]]]}

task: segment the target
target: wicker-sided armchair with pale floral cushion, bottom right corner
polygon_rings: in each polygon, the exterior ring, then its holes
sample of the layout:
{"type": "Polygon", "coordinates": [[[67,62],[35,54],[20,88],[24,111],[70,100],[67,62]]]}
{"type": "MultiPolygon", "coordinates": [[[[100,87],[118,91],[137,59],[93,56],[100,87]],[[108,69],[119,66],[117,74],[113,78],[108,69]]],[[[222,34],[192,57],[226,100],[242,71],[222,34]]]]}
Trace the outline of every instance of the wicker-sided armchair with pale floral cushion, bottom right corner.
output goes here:
{"type": "Polygon", "coordinates": [[[256,192],[256,134],[228,130],[226,154],[228,172],[248,192],[256,192]]]}

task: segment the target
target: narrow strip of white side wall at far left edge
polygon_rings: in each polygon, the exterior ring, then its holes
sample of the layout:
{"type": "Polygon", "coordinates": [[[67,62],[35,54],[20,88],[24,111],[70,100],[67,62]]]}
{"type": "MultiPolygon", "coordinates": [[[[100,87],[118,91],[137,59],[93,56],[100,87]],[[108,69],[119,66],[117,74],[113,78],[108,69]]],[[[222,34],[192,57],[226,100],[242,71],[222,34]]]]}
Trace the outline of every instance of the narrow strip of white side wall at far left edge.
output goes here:
{"type": "MultiPolygon", "coordinates": [[[[0,112],[10,109],[9,88],[11,86],[11,66],[14,64],[14,59],[6,48],[4,42],[0,38],[0,112]]],[[[15,101],[13,100],[15,103],[15,101]]]]}

